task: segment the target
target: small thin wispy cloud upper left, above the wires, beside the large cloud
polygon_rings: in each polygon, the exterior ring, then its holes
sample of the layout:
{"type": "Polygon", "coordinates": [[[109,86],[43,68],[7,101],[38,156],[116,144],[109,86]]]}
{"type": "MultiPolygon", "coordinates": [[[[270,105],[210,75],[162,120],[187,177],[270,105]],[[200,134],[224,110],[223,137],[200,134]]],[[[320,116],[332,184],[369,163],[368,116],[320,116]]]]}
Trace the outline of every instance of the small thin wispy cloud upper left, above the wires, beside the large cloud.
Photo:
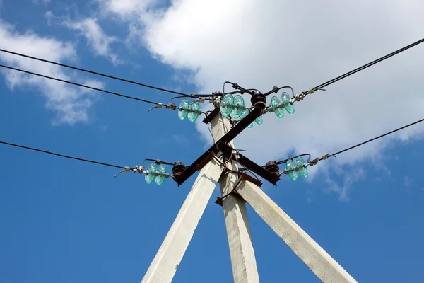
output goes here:
{"type": "MultiPolygon", "coordinates": [[[[51,21],[52,17],[54,16],[51,12],[46,13],[47,21],[51,21]]],[[[117,41],[117,38],[106,35],[95,18],[86,18],[82,21],[66,20],[63,24],[72,30],[78,30],[81,35],[86,37],[88,45],[90,45],[96,55],[110,59],[113,64],[120,63],[117,54],[114,54],[110,47],[112,43],[117,41]]]]}

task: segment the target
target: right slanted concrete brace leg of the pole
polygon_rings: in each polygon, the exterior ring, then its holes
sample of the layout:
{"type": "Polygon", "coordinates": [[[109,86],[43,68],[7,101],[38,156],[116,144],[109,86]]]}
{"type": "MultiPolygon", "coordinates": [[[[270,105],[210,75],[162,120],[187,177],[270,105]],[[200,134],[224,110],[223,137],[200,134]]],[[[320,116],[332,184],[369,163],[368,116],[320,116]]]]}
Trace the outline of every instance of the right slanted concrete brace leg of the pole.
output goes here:
{"type": "Polygon", "coordinates": [[[257,185],[242,180],[237,192],[322,282],[357,283],[257,185]]]}

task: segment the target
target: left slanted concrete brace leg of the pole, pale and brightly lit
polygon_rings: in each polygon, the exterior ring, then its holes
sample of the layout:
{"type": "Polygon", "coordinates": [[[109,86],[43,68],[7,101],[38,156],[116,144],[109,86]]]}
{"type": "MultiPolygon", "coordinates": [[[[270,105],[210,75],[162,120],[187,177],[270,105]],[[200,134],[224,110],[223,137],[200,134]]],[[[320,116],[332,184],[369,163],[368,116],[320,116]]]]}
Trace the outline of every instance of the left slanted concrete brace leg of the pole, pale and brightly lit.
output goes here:
{"type": "Polygon", "coordinates": [[[213,159],[200,171],[142,283],[172,282],[222,172],[223,168],[213,159]]]}

